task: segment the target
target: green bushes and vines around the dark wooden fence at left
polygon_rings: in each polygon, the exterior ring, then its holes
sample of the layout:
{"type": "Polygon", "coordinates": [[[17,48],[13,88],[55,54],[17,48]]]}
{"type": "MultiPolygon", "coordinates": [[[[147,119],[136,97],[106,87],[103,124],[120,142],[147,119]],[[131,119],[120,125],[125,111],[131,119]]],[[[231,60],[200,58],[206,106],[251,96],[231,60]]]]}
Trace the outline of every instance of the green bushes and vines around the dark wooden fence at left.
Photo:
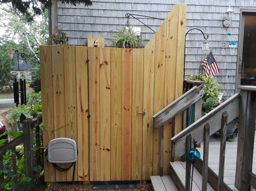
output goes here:
{"type": "MultiPolygon", "coordinates": [[[[23,113],[25,116],[33,116],[33,117],[41,118],[41,115],[42,115],[41,92],[28,94],[27,105],[13,107],[7,116],[7,121],[11,125],[13,125],[13,123],[19,119],[21,113],[23,113]]],[[[42,126],[43,125],[39,126],[40,133],[42,133],[44,130],[44,127],[42,126]]],[[[11,132],[6,132],[4,134],[1,134],[0,147],[3,144],[5,144],[7,141],[4,138],[5,135],[10,135],[13,138],[16,138],[21,134],[22,132],[17,132],[17,131],[11,131],[11,132]]],[[[35,134],[35,129],[33,129],[33,134],[35,134]]],[[[41,149],[43,145],[41,140],[40,146],[36,146],[35,138],[33,139],[33,144],[34,144],[34,152],[37,151],[38,149],[41,149]]],[[[0,177],[1,178],[3,177],[4,181],[2,184],[0,184],[0,190],[15,191],[19,187],[19,185],[22,185],[24,188],[26,188],[31,181],[31,178],[25,177],[25,174],[24,174],[25,159],[24,159],[23,145],[16,146],[17,173],[14,173],[12,170],[12,154],[13,154],[12,150],[7,150],[7,152],[3,155],[4,168],[0,170],[0,177]],[[17,179],[17,182],[13,181],[14,178],[17,179]]],[[[33,169],[34,170],[33,174],[36,181],[39,180],[39,178],[43,175],[43,167],[40,164],[35,163],[35,167],[33,169]]]]}

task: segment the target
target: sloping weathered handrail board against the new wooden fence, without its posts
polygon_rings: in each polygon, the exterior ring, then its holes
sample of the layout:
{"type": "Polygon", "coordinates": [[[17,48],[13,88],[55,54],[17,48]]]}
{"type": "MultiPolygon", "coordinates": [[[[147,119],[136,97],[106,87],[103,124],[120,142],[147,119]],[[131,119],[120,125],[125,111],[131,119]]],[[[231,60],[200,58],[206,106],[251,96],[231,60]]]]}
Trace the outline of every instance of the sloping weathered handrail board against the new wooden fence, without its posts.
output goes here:
{"type": "Polygon", "coordinates": [[[164,125],[167,121],[174,118],[180,112],[184,111],[187,107],[191,106],[199,99],[203,97],[204,84],[195,86],[187,91],[185,94],[175,99],[171,104],[164,107],[158,113],[153,116],[154,128],[159,128],[164,125]]]}

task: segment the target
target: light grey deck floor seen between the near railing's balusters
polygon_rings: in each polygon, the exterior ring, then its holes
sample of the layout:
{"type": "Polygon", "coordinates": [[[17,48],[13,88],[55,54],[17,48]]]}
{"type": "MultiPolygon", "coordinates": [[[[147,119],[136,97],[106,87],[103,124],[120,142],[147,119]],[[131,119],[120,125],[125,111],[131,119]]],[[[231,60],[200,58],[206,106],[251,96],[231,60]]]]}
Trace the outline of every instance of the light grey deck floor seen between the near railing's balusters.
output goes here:
{"type": "MultiPolygon", "coordinates": [[[[201,153],[201,159],[203,159],[203,143],[201,148],[198,148],[201,153]]],[[[225,170],[224,170],[224,182],[233,190],[237,191],[234,187],[235,182],[235,168],[236,168],[236,153],[237,152],[237,138],[233,139],[233,142],[226,142],[226,154],[225,154],[225,170]]],[[[220,156],[220,138],[210,137],[209,141],[209,167],[218,175],[219,173],[219,156],[220,156]]],[[[256,172],[256,134],[254,141],[254,158],[253,158],[253,172],[256,172]]],[[[254,191],[253,188],[251,191],[254,191]]]]}

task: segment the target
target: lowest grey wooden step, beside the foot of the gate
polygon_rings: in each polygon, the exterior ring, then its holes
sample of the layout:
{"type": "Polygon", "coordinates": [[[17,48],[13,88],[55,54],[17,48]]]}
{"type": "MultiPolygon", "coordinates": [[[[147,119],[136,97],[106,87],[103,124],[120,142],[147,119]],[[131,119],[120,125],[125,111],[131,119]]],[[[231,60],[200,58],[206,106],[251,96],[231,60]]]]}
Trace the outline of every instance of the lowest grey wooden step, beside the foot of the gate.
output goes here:
{"type": "Polygon", "coordinates": [[[178,191],[171,176],[151,176],[153,191],[178,191]]]}

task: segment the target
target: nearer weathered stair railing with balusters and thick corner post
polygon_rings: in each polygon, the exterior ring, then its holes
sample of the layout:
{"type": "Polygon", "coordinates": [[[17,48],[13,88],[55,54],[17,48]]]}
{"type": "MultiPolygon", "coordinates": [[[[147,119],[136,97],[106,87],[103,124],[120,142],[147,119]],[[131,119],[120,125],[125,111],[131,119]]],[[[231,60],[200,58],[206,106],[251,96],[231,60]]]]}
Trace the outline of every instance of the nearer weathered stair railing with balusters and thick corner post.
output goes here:
{"type": "MultiPolygon", "coordinates": [[[[256,186],[256,175],[252,173],[253,145],[255,135],[256,118],[256,87],[241,86],[240,94],[230,97],[220,106],[217,106],[204,117],[184,129],[172,138],[172,155],[180,157],[191,149],[192,140],[197,143],[204,141],[203,164],[202,164],[202,190],[207,190],[208,183],[208,154],[209,137],[216,131],[221,132],[219,176],[216,190],[222,191],[224,182],[224,162],[227,136],[227,124],[239,117],[240,128],[238,133],[238,149],[236,162],[235,186],[239,191],[249,191],[250,187],[256,186]]],[[[191,161],[186,160],[186,185],[185,190],[190,191],[191,161]]]]}

